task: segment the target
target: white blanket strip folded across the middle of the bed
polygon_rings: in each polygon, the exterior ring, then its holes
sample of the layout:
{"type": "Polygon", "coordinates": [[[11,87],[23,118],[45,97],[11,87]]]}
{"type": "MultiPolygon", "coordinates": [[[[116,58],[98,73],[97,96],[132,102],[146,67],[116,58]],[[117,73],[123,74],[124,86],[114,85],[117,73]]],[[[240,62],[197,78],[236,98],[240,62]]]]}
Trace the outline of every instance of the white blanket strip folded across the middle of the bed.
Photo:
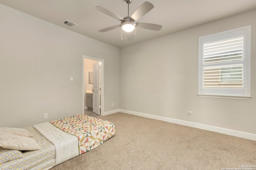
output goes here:
{"type": "Polygon", "coordinates": [[[79,155],[78,138],[66,133],[50,122],[33,125],[56,148],[56,165],[79,155]]]}

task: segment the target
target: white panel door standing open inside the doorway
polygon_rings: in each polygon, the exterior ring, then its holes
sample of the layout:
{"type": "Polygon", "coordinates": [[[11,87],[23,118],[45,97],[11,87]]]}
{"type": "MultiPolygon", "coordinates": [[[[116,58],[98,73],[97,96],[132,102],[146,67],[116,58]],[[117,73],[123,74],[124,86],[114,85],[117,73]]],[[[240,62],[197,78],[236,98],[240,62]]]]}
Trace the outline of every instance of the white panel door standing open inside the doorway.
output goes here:
{"type": "Polygon", "coordinates": [[[100,62],[93,64],[92,111],[100,115],[100,62]]]}

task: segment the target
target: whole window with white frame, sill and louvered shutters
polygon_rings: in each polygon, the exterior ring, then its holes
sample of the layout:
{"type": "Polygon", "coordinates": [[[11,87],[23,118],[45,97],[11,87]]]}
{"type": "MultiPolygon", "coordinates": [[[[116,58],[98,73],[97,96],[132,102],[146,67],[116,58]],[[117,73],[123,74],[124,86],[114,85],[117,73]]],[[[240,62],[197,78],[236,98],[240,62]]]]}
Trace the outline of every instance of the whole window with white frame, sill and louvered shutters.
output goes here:
{"type": "Polygon", "coordinates": [[[251,25],[199,37],[198,96],[250,99],[251,25]]]}

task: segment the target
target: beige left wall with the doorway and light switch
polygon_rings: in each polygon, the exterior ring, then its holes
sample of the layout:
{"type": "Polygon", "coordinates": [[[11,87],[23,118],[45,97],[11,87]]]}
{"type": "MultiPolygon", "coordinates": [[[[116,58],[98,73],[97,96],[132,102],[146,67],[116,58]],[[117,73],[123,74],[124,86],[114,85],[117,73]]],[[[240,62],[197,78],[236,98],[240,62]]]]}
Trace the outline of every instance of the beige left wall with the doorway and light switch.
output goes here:
{"type": "Polygon", "coordinates": [[[81,114],[83,55],[104,59],[104,111],[119,108],[120,49],[2,4],[0,20],[0,127],[81,114]]]}

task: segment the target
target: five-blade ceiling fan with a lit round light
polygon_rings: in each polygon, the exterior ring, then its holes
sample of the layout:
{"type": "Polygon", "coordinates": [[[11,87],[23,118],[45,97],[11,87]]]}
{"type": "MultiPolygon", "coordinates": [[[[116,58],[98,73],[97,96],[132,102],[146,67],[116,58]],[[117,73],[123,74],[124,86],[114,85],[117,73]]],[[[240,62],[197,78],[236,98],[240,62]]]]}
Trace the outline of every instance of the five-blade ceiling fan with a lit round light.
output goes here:
{"type": "MultiPolygon", "coordinates": [[[[128,4],[128,16],[127,17],[120,17],[117,14],[111,12],[110,10],[107,10],[106,8],[103,8],[102,6],[96,6],[95,9],[111,16],[119,21],[121,21],[120,25],[114,25],[111,27],[107,27],[104,29],[100,29],[100,32],[106,32],[110,31],[112,29],[116,29],[118,27],[122,27],[122,30],[127,32],[127,38],[128,40],[134,39],[134,29],[136,30],[136,27],[141,27],[144,29],[150,29],[154,31],[160,31],[162,29],[162,25],[153,24],[153,23],[142,23],[142,22],[136,22],[139,20],[142,16],[147,14],[150,10],[154,8],[154,6],[150,2],[144,2],[133,14],[132,16],[129,16],[129,4],[132,2],[132,0],[126,0],[126,3],[128,4]]],[[[136,33],[135,33],[136,34],[136,33]]],[[[122,35],[122,33],[121,33],[122,35]]],[[[121,38],[122,39],[122,38],[121,38]]]]}

